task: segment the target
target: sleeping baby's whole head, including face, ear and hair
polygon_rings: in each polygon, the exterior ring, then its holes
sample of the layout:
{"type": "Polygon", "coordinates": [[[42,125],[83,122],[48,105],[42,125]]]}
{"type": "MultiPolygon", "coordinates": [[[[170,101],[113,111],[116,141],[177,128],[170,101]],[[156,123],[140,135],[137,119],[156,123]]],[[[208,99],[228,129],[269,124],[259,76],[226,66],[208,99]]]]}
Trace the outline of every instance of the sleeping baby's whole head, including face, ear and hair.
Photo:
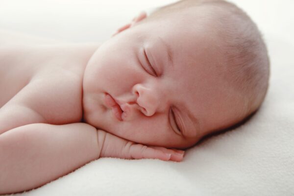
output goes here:
{"type": "Polygon", "coordinates": [[[183,0],[101,45],[83,81],[84,120],[141,144],[186,148],[261,105],[269,59],[256,25],[223,0],[183,0]]]}

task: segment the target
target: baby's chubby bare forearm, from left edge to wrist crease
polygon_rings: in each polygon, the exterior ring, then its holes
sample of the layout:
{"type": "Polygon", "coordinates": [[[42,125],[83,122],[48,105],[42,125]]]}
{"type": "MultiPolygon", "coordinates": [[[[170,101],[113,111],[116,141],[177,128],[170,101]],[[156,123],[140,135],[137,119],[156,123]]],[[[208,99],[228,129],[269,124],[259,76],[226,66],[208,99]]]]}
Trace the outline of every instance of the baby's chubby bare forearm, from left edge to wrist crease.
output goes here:
{"type": "Polygon", "coordinates": [[[37,188],[98,159],[97,129],[35,123],[0,135],[0,195],[37,188]]]}

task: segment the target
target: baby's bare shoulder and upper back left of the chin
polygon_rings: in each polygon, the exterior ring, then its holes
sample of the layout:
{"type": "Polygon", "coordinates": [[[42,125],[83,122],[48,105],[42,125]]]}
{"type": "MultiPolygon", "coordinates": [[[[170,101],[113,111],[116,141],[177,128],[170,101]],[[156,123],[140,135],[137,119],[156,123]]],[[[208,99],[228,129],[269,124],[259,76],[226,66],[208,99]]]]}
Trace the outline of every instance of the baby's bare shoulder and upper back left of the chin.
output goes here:
{"type": "Polygon", "coordinates": [[[92,53],[73,45],[20,47],[7,47],[9,58],[0,58],[0,75],[5,76],[0,77],[1,110],[18,105],[29,109],[18,110],[23,117],[34,111],[46,123],[79,122],[83,72],[92,53]]]}

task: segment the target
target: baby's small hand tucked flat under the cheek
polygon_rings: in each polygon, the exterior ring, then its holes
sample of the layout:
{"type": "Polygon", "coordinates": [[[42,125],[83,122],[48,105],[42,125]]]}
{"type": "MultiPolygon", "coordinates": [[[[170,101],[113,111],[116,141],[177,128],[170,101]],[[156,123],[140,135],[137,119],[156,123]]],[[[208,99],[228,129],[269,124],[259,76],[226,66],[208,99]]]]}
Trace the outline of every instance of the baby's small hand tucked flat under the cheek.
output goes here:
{"type": "Polygon", "coordinates": [[[160,159],[163,161],[182,161],[183,150],[165,147],[145,146],[125,140],[103,130],[98,130],[98,137],[105,136],[100,157],[123,159],[160,159]]]}

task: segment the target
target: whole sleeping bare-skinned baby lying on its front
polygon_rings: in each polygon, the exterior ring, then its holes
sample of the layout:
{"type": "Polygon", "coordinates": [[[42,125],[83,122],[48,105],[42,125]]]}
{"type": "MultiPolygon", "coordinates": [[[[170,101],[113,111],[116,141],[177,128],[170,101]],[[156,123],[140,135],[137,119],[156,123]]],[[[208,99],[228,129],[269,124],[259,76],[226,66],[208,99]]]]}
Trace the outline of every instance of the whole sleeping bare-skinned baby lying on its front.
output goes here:
{"type": "Polygon", "coordinates": [[[182,161],[253,114],[268,81],[258,28],[223,0],[143,12],[100,46],[1,44],[0,194],[100,157],[182,161]]]}

